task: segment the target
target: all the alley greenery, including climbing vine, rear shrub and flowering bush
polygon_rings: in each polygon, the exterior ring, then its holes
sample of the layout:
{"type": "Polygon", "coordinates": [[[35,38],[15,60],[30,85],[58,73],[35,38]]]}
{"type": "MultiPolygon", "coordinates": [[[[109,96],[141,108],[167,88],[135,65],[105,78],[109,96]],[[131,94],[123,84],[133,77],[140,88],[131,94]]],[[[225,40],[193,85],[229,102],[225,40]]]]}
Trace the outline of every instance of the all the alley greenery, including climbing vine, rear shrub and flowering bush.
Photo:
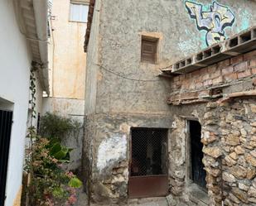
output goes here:
{"type": "Polygon", "coordinates": [[[33,127],[36,118],[36,68],[36,64],[32,63],[29,101],[31,127],[27,130],[31,144],[26,151],[25,165],[30,182],[25,185],[26,194],[22,196],[28,198],[31,206],[68,206],[75,204],[75,189],[80,188],[82,182],[72,172],[65,172],[61,168],[62,163],[69,162],[72,149],[62,146],[60,141],[66,132],[80,126],[69,118],[47,113],[42,118],[41,126],[41,134],[46,135],[46,138],[36,133],[36,127],[33,127]]]}

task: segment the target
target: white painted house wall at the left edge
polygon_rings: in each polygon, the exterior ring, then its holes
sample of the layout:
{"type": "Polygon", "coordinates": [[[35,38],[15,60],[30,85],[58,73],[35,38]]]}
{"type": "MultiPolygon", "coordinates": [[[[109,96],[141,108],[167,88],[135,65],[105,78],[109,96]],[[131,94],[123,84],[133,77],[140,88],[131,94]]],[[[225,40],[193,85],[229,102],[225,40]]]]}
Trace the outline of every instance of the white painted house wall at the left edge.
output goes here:
{"type": "Polygon", "coordinates": [[[26,38],[18,29],[10,0],[0,1],[0,25],[0,98],[13,103],[5,202],[5,206],[12,206],[22,186],[31,55],[26,38]]]}

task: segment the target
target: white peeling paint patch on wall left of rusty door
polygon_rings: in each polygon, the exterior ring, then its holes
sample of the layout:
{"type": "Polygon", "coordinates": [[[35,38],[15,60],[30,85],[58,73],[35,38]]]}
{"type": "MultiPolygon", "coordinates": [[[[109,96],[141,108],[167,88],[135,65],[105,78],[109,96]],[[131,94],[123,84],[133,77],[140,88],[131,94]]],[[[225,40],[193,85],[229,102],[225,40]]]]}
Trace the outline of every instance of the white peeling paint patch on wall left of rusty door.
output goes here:
{"type": "Polygon", "coordinates": [[[102,171],[115,161],[126,159],[127,143],[125,135],[110,137],[102,141],[98,151],[98,170],[102,171]]]}

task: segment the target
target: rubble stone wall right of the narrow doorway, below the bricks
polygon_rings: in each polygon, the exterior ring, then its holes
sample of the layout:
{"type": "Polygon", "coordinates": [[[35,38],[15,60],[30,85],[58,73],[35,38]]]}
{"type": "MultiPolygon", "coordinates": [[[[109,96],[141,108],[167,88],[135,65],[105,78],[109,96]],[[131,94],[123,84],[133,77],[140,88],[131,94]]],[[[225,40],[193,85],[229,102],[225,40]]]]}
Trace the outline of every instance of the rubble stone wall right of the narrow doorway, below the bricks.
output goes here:
{"type": "Polygon", "coordinates": [[[211,205],[256,204],[255,98],[209,103],[203,119],[211,205]]]}

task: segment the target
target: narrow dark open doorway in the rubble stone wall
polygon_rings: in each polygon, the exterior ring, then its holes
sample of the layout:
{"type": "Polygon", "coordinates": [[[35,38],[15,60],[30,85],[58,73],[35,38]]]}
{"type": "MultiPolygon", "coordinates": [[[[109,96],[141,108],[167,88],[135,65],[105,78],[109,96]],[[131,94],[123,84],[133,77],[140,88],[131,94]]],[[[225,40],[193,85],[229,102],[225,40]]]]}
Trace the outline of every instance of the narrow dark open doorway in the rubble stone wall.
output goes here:
{"type": "Polygon", "coordinates": [[[190,136],[190,179],[194,184],[199,185],[202,189],[206,189],[206,171],[203,164],[203,143],[200,142],[201,126],[200,122],[190,120],[189,136],[190,136]]]}

